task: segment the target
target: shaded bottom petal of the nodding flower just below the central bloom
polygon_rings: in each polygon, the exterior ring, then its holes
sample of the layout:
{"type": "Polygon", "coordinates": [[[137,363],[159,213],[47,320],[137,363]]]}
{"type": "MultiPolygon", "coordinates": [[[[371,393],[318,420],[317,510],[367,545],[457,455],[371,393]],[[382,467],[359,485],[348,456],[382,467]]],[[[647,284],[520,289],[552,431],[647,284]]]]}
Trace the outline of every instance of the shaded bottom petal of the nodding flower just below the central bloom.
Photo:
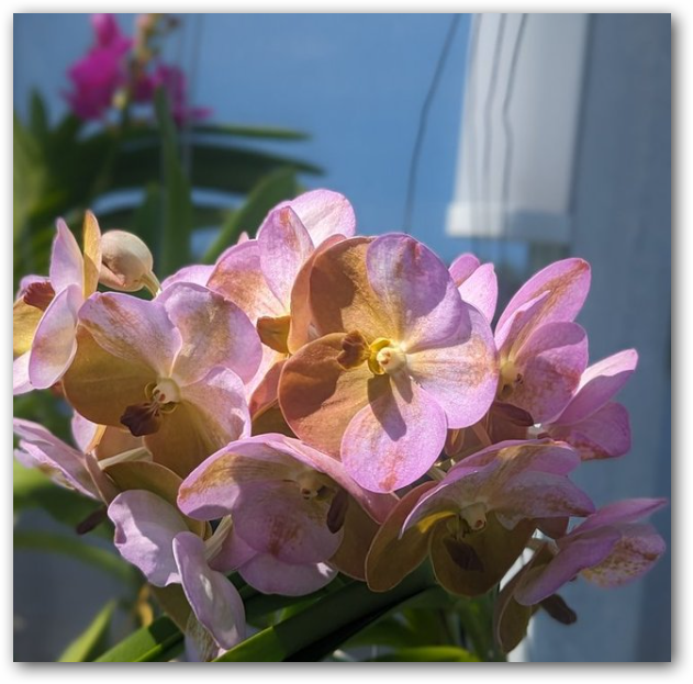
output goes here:
{"type": "Polygon", "coordinates": [[[329,584],[337,571],[327,563],[292,565],[260,553],[238,568],[238,574],[262,594],[304,596],[329,584]]]}

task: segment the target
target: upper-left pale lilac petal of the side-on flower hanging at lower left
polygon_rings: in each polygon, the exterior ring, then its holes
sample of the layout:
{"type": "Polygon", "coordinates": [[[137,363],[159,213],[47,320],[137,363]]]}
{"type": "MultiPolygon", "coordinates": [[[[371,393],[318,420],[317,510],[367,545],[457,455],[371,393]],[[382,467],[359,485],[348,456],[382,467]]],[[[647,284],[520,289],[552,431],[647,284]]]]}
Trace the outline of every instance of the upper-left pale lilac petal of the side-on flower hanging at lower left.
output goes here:
{"type": "Polygon", "coordinates": [[[180,582],[172,543],[188,526],[174,506],[152,492],[130,490],[111,502],[109,517],[115,525],[114,542],[121,556],[152,584],[180,582]]]}

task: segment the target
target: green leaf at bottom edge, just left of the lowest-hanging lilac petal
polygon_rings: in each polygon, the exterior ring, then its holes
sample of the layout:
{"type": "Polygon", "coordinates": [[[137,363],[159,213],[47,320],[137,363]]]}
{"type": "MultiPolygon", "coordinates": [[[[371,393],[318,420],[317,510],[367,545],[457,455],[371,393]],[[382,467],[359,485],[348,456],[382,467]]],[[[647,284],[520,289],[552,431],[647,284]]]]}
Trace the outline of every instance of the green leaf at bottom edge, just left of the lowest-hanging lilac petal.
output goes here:
{"type": "Polygon", "coordinates": [[[183,636],[168,617],[159,617],[97,658],[97,662],[141,663],[167,660],[180,653],[183,636]]]}

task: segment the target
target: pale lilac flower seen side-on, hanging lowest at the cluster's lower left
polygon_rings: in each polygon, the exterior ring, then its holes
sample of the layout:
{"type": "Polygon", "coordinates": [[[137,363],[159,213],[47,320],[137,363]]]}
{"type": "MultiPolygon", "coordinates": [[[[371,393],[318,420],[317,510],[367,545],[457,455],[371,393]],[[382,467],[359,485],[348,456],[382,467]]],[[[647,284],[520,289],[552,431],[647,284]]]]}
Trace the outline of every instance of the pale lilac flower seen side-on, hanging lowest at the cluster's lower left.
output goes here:
{"type": "Polygon", "coordinates": [[[226,519],[202,539],[165,498],[145,490],[119,494],[109,506],[115,547],[154,586],[180,584],[199,624],[220,649],[245,639],[245,608],[236,587],[210,563],[231,531],[226,519]]]}

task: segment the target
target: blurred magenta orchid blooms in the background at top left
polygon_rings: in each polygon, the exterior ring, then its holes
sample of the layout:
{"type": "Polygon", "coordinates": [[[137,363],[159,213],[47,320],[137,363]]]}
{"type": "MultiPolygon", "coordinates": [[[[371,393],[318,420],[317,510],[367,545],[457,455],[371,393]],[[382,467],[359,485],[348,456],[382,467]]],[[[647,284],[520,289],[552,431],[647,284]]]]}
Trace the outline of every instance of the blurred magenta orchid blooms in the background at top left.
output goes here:
{"type": "Polygon", "coordinates": [[[188,103],[185,74],[158,56],[156,41],[176,26],[161,14],[139,14],[135,35],[122,33],[113,14],[92,14],[94,43],[68,70],[71,89],[65,98],[82,121],[102,120],[130,103],[150,104],[161,87],[179,124],[206,119],[211,111],[188,103]]]}

